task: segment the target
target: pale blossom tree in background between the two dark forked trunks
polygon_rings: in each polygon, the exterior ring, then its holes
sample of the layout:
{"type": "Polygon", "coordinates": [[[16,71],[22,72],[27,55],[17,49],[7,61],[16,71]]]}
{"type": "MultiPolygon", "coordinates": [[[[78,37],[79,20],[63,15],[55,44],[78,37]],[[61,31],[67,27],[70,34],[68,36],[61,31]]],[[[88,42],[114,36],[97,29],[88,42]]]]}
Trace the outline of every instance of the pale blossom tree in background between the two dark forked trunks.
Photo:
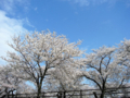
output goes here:
{"type": "MultiPolygon", "coordinates": [[[[76,64],[76,63],[75,63],[76,64]]],[[[79,64],[78,64],[79,65],[79,64]]],[[[52,76],[47,79],[46,88],[47,90],[56,90],[60,95],[64,95],[63,91],[74,90],[67,93],[68,98],[73,98],[77,91],[80,90],[82,86],[82,78],[79,77],[80,69],[72,68],[72,65],[63,64],[62,68],[55,69],[52,76]]],[[[75,98],[78,98],[75,96],[75,98]]]]}

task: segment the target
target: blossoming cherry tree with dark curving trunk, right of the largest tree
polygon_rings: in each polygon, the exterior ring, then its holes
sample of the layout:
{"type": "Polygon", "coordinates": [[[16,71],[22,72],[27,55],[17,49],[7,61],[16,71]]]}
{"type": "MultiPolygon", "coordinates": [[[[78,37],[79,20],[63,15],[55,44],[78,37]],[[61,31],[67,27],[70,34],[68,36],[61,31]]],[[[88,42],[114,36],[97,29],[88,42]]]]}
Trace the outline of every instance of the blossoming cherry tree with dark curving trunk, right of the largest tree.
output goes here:
{"type": "Polygon", "coordinates": [[[82,76],[91,81],[100,89],[100,98],[104,98],[107,88],[120,87],[125,83],[125,66],[116,60],[115,47],[101,47],[87,54],[84,59],[86,71],[82,76]]]}

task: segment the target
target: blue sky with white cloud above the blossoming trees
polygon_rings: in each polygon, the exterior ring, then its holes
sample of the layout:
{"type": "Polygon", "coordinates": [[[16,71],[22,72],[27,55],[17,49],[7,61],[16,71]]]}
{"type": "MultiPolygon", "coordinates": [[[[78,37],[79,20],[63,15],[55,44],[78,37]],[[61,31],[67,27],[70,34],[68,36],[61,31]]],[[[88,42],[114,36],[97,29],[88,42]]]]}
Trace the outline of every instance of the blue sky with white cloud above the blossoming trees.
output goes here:
{"type": "Polygon", "coordinates": [[[0,56],[10,36],[47,28],[87,52],[115,46],[130,39],[130,0],[0,0],[0,56]]]}

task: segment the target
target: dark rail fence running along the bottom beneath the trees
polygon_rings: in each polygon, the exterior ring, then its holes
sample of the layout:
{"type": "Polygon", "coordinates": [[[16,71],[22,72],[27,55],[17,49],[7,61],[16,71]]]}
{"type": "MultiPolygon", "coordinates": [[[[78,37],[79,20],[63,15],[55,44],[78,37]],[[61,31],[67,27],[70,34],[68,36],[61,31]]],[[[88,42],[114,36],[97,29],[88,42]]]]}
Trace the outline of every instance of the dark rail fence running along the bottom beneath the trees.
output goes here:
{"type": "MultiPolygon", "coordinates": [[[[64,91],[43,91],[40,97],[37,93],[32,94],[13,94],[1,98],[100,98],[100,89],[64,90],[64,91]]],[[[104,98],[130,98],[130,87],[107,88],[104,98]]]]}

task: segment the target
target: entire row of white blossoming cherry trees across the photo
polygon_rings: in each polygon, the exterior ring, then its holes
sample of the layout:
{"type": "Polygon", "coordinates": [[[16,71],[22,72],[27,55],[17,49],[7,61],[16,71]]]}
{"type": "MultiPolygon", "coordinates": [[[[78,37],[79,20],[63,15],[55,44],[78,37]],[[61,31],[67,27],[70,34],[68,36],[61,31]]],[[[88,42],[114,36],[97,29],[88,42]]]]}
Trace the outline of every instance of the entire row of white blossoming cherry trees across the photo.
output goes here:
{"type": "Polygon", "coordinates": [[[104,98],[109,87],[121,87],[129,79],[130,40],[118,47],[101,47],[87,54],[78,48],[81,41],[68,39],[55,33],[35,32],[24,37],[15,36],[14,49],[2,57],[6,65],[0,66],[0,93],[81,89],[82,78],[100,89],[104,98]],[[86,57],[84,57],[86,56],[86,57]],[[29,87],[30,82],[36,87],[29,87]]]}

